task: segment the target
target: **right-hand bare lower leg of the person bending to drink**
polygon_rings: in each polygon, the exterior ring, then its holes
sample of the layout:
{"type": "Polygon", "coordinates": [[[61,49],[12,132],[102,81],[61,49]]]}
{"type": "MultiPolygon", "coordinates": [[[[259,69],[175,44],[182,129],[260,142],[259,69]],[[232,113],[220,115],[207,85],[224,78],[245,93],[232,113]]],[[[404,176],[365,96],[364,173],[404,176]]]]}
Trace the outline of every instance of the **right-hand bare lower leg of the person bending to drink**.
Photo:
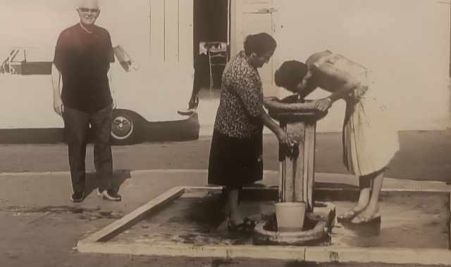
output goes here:
{"type": "Polygon", "coordinates": [[[353,223],[370,221],[379,216],[379,195],[381,195],[383,174],[385,169],[371,174],[371,197],[365,209],[352,220],[353,223]]]}

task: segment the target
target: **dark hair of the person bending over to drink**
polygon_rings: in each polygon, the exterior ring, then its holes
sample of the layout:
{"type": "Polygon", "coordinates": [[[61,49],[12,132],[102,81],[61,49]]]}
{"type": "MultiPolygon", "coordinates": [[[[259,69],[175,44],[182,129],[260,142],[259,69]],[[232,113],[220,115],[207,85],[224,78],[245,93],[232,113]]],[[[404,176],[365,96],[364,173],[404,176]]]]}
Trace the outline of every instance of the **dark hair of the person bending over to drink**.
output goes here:
{"type": "Polygon", "coordinates": [[[302,82],[308,68],[302,62],[296,60],[285,61],[274,74],[274,82],[277,86],[285,89],[294,89],[299,82],[302,82]]]}

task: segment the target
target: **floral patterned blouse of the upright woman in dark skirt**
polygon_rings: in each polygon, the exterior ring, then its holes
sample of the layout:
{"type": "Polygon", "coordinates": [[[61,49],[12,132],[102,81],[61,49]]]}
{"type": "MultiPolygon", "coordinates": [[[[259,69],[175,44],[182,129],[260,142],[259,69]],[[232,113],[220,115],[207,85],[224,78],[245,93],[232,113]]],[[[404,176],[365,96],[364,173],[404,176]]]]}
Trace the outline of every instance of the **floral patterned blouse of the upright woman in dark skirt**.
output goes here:
{"type": "Polygon", "coordinates": [[[214,129],[230,137],[249,138],[263,129],[257,118],[261,112],[263,89],[259,72],[240,51],[224,69],[214,129]]]}

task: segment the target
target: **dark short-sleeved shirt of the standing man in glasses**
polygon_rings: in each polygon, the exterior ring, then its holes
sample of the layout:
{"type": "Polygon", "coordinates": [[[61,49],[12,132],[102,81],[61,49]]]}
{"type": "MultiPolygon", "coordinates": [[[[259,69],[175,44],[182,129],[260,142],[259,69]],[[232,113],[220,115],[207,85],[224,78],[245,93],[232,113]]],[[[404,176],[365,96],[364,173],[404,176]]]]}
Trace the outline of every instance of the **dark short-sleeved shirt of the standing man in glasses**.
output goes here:
{"type": "Polygon", "coordinates": [[[63,30],[54,64],[63,78],[64,105],[88,113],[111,105],[108,71],[113,62],[111,37],[104,28],[94,26],[88,33],[77,24],[63,30]]]}

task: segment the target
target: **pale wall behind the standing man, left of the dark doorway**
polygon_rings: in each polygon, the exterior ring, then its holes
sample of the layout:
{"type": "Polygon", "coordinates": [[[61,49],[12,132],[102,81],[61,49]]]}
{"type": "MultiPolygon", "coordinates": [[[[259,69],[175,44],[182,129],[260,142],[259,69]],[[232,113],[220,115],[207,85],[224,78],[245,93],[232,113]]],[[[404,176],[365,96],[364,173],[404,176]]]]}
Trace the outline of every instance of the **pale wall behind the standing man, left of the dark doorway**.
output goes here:
{"type": "MultiPolygon", "coordinates": [[[[75,3],[0,0],[0,51],[11,46],[53,50],[61,30],[80,21],[75,3]]],[[[192,0],[104,0],[97,25],[106,27],[113,46],[121,44],[132,58],[192,63],[192,20],[192,0]]]]}

